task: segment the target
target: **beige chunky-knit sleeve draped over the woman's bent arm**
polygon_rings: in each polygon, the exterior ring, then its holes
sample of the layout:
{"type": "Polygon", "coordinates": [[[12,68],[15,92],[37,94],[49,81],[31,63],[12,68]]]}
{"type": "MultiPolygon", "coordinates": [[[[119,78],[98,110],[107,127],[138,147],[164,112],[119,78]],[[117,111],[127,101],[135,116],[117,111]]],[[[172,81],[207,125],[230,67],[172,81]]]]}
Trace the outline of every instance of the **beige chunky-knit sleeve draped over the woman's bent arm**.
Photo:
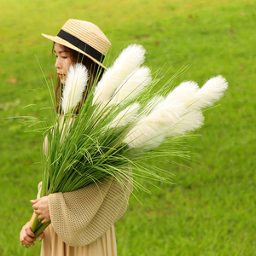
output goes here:
{"type": "Polygon", "coordinates": [[[131,181],[121,185],[113,177],[73,192],[49,195],[49,215],[56,234],[69,246],[96,241],[124,213],[131,181]]]}

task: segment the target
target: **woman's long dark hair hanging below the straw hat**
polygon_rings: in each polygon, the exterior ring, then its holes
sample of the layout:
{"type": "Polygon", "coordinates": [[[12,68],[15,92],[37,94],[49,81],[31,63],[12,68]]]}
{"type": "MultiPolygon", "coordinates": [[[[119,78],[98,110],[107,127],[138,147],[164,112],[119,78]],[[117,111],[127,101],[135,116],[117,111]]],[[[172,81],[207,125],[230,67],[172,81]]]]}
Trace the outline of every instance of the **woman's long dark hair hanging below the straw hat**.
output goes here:
{"type": "MultiPolygon", "coordinates": [[[[79,108],[82,106],[84,100],[86,99],[86,96],[90,93],[91,87],[95,82],[99,82],[100,79],[102,79],[102,74],[104,73],[104,68],[98,65],[95,61],[90,60],[86,55],[83,55],[79,53],[78,51],[74,49],[70,49],[65,45],[61,45],[61,47],[70,53],[70,56],[72,58],[72,61],[75,63],[82,63],[89,73],[89,81],[87,82],[86,89],[84,90],[84,95],[79,103],[79,107],[77,110],[77,113],[79,112],[79,108]]],[[[55,48],[55,44],[53,46],[53,51],[55,48]]],[[[61,113],[61,96],[63,92],[64,84],[61,84],[61,79],[57,79],[57,84],[55,87],[55,110],[57,113],[61,113]]]]}

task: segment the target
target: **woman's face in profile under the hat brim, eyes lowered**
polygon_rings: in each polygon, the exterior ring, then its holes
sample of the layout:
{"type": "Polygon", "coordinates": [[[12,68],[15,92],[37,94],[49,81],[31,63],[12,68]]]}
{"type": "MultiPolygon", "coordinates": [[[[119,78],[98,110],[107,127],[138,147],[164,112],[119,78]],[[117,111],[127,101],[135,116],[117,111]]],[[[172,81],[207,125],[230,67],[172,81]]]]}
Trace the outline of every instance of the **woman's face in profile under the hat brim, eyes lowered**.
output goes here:
{"type": "Polygon", "coordinates": [[[72,56],[68,50],[64,49],[61,44],[55,43],[55,67],[57,69],[57,73],[59,78],[61,79],[61,84],[65,84],[67,79],[67,72],[71,65],[74,64],[72,60],[72,56]]]}

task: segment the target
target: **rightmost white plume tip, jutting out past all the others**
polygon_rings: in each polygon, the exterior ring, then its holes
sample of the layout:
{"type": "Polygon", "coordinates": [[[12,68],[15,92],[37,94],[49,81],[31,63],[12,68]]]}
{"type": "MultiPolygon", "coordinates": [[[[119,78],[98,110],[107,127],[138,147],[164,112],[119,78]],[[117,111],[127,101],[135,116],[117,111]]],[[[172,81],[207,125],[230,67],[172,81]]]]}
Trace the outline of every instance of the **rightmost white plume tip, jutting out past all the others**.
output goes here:
{"type": "Polygon", "coordinates": [[[222,96],[224,91],[227,90],[228,83],[222,76],[217,76],[209,79],[200,90],[195,93],[195,103],[192,108],[206,108],[217,102],[222,96]]]}

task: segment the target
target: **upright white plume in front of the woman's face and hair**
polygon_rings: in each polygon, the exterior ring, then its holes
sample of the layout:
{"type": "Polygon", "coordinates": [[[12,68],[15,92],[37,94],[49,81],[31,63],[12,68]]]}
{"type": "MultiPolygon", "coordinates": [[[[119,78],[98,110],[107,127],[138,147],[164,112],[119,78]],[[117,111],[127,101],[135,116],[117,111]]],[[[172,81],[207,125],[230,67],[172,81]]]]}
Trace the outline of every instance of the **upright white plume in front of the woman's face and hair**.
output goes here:
{"type": "Polygon", "coordinates": [[[87,80],[88,72],[84,65],[77,63],[69,67],[61,101],[64,113],[71,111],[82,100],[87,80]]]}

